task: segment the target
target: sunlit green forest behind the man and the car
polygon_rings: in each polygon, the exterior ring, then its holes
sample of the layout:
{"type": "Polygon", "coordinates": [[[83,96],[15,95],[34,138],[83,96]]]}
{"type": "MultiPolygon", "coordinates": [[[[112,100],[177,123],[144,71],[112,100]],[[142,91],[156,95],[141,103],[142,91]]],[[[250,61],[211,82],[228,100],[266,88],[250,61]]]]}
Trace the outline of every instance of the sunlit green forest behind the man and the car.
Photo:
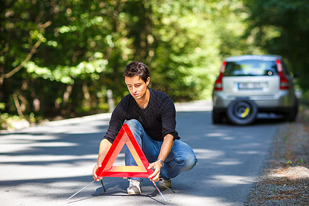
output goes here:
{"type": "Polygon", "coordinates": [[[0,129],[109,111],[132,60],[184,102],[211,98],[223,58],[279,54],[309,100],[308,0],[0,2],[0,129]]]}

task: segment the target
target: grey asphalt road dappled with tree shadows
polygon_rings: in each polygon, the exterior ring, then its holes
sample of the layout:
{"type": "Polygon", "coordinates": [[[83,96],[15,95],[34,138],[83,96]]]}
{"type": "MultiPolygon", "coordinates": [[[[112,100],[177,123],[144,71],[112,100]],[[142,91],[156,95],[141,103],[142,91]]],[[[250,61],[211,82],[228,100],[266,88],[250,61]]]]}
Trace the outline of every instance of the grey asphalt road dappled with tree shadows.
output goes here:
{"type": "MultiPolygon", "coordinates": [[[[172,190],[143,181],[143,193],[128,196],[128,181],[106,177],[91,183],[98,146],[110,114],[49,122],[0,134],[0,205],[243,205],[268,155],[279,119],[251,126],[211,124],[205,101],[177,104],[177,130],[194,148],[197,165],[172,179],[172,190]]],[[[120,153],[115,164],[122,165],[120,153]]]]}

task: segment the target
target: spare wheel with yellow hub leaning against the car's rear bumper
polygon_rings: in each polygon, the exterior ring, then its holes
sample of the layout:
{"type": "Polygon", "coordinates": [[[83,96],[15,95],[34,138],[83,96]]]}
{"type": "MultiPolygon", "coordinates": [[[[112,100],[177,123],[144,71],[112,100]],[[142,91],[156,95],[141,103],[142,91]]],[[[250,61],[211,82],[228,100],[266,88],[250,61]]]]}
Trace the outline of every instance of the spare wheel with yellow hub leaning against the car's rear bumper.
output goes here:
{"type": "Polygon", "coordinates": [[[227,119],[236,125],[246,125],[254,122],[258,115],[258,107],[248,99],[238,99],[227,108],[227,119]]]}

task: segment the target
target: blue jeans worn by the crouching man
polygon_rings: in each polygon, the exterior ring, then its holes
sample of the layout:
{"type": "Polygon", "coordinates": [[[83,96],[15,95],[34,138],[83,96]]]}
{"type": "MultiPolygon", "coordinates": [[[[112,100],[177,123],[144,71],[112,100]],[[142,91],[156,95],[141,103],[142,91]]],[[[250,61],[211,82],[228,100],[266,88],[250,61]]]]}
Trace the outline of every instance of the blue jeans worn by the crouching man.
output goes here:
{"type": "MultiPolygon", "coordinates": [[[[163,141],[155,141],[151,139],[136,119],[130,119],[126,122],[126,124],[128,124],[149,163],[157,161],[163,141]]],[[[135,159],[131,155],[130,150],[128,150],[128,147],[126,145],[124,147],[126,165],[137,165],[135,159]]],[[[174,178],[181,172],[191,170],[194,165],[196,165],[196,162],[197,159],[192,148],[190,148],[190,146],[185,144],[183,141],[175,139],[172,150],[164,161],[164,167],[161,168],[160,175],[166,180],[174,178]]],[[[138,181],[142,180],[141,178],[132,179],[136,179],[138,181]]]]}

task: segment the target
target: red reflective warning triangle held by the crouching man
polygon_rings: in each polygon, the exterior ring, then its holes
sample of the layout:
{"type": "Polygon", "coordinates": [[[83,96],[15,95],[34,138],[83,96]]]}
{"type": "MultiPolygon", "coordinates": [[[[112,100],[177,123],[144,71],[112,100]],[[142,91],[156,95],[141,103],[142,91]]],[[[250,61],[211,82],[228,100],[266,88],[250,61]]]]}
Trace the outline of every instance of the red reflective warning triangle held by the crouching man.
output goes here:
{"type": "Polygon", "coordinates": [[[115,138],[111,148],[108,150],[104,160],[102,161],[102,167],[98,169],[96,174],[97,176],[148,177],[153,172],[151,168],[147,169],[148,166],[149,163],[144,155],[144,152],[139,147],[139,144],[137,144],[137,141],[128,127],[128,124],[124,124],[115,138]],[[113,165],[120,151],[124,147],[124,144],[128,146],[128,149],[135,159],[137,166],[113,165]]]}

